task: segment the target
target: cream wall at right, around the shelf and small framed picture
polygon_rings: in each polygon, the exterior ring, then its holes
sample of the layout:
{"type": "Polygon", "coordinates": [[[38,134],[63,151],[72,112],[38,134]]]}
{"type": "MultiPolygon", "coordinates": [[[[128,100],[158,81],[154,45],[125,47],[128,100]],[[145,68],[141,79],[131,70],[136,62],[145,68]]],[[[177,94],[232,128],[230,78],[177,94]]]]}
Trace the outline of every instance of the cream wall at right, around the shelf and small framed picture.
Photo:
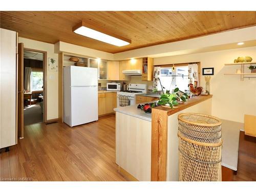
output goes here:
{"type": "MultiPolygon", "coordinates": [[[[210,80],[210,93],[214,95],[212,115],[230,121],[244,122],[244,114],[256,115],[256,79],[241,81],[240,76],[224,75],[235,73],[236,69],[239,69],[239,66],[224,66],[224,63],[233,62],[238,56],[251,56],[252,61],[256,61],[256,47],[158,57],[154,58],[154,65],[200,61],[201,68],[214,67],[215,75],[210,80]]],[[[245,72],[250,71],[246,69],[245,72]]],[[[205,87],[202,75],[200,83],[205,87]]]]}

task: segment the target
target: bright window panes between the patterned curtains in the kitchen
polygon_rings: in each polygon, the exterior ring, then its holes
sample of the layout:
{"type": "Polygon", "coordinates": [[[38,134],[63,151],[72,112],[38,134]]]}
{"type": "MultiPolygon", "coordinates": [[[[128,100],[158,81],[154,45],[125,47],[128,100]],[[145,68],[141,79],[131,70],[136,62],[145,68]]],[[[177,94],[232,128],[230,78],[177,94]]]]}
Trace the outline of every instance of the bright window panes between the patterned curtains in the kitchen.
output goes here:
{"type": "Polygon", "coordinates": [[[181,91],[188,90],[188,66],[161,67],[160,80],[164,90],[172,91],[178,87],[181,91]]]}

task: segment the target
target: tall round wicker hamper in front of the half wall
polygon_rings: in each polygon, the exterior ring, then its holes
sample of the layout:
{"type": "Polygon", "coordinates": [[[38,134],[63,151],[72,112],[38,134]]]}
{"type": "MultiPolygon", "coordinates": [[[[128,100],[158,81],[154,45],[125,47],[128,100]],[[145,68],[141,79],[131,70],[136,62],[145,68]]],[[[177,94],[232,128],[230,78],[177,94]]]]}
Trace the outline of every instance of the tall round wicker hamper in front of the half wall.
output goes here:
{"type": "Polygon", "coordinates": [[[195,113],[178,116],[179,181],[221,181],[221,121],[195,113]]]}

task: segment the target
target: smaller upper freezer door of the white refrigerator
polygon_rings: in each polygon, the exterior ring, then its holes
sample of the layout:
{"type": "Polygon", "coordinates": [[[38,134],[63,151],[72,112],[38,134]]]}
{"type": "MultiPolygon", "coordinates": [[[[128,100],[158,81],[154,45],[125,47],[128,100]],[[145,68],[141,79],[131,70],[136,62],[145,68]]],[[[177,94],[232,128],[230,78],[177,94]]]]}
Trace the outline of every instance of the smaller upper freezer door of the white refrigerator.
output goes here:
{"type": "Polygon", "coordinates": [[[98,70],[71,66],[71,86],[98,86],[98,70]]]}

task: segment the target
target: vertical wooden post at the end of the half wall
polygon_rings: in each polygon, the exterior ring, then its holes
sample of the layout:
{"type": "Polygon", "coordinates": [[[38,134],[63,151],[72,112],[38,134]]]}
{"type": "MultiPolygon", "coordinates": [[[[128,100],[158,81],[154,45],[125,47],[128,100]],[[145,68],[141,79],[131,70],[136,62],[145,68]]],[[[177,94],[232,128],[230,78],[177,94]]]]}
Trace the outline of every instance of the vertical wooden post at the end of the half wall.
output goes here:
{"type": "Polygon", "coordinates": [[[151,181],[166,181],[167,111],[152,109],[151,181]]]}

